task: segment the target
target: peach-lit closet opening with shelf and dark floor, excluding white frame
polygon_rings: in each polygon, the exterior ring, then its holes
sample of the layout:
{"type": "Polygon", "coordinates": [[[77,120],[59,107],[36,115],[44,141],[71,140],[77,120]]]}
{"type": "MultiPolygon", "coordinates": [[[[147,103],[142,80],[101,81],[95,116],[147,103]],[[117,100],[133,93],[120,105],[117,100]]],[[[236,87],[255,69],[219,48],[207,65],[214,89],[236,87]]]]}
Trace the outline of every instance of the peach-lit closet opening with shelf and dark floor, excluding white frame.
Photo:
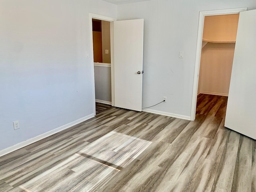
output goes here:
{"type": "Polygon", "coordinates": [[[225,118],[238,19],[239,14],[204,17],[197,114],[225,118]]]}

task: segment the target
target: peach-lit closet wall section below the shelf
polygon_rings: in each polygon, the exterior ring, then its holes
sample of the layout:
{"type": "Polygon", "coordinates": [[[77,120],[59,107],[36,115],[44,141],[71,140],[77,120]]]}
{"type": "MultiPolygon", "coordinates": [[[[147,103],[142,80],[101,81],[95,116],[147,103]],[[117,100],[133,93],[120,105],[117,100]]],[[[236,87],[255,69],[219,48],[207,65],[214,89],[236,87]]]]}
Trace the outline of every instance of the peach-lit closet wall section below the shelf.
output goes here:
{"type": "Polygon", "coordinates": [[[198,91],[206,94],[228,95],[234,43],[207,43],[201,52],[198,91]]]}

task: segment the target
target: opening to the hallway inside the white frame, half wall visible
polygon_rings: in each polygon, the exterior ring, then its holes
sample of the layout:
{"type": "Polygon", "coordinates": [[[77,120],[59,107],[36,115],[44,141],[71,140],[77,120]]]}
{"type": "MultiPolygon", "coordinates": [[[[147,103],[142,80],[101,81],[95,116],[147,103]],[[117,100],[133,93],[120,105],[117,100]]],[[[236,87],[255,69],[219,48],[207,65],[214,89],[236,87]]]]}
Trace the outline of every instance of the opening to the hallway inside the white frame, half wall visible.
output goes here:
{"type": "Polygon", "coordinates": [[[112,105],[110,22],[92,19],[96,114],[100,104],[112,105]]]}

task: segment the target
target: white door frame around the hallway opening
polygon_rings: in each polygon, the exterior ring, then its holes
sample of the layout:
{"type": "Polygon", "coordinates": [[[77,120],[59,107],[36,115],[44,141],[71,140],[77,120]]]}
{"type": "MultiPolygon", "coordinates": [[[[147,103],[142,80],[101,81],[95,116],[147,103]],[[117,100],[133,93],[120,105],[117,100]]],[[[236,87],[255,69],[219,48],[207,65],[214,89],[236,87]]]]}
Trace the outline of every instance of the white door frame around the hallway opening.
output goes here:
{"type": "Polygon", "coordinates": [[[90,13],[89,14],[89,24],[90,24],[90,43],[91,43],[91,66],[92,66],[92,95],[93,95],[93,111],[94,116],[96,115],[96,106],[95,106],[95,79],[94,79],[94,62],[93,62],[93,39],[92,39],[92,19],[98,19],[103,21],[110,22],[110,54],[111,54],[111,96],[112,96],[112,106],[114,106],[114,48],[113,48],[113,21],[116,21],[116,18],[102,16],[90,13]]]}

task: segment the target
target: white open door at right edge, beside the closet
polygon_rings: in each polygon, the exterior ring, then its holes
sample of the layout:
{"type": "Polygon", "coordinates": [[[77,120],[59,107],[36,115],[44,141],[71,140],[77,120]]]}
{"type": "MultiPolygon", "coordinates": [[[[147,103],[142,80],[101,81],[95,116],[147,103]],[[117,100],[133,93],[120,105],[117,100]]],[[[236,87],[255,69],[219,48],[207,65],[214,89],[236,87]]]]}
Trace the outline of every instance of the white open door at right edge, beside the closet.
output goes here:
{"type": "Polygon", "coordinates": [[[225,126],[256,139],[256,10],[240,12],[225,126]]]}

